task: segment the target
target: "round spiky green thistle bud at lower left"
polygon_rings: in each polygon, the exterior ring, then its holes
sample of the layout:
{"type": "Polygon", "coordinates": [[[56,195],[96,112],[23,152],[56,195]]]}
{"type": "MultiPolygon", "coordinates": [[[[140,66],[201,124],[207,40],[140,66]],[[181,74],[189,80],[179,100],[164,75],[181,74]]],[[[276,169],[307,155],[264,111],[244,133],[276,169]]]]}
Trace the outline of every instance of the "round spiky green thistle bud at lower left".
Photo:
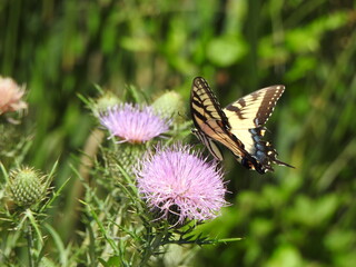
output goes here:
{"type": "Polygon", "coordinates": [[[8,189],[18,206],[29,207],[44,198],[48,182],[46,176],[41,176],[33,168],[23,167],[11,171],[8,189]]]}

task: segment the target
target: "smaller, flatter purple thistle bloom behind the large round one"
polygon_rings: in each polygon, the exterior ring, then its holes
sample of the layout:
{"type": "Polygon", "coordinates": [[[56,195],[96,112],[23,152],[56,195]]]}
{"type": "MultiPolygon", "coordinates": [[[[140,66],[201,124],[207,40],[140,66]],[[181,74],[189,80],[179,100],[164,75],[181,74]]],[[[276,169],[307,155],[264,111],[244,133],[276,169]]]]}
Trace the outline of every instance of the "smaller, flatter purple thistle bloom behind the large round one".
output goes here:
{"type": "Polygon", "coordinates": [[[117,136],[120,142],[145,142],[166,131],[171,123],[154,112],[151,107],[121,103],[109,108],[100,116],[100,122],[108,128],[111,136],[117,136]]]}

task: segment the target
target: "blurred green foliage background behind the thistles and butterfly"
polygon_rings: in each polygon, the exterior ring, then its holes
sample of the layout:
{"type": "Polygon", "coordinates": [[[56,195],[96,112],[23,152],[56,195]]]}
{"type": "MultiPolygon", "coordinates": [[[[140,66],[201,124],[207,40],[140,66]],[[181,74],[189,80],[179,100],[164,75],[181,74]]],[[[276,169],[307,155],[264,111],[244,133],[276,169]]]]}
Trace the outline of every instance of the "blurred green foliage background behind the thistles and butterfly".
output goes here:
{"type": "MultiPolygon", "coordinates": [[[[260,176],[226,154],[228,200],[207,224],[192,266],[354,266],[356,263],[356,3],[346,0],[0,1],[0,75],[28,88],[24,162],[56,184],[97,122],[78,93],[126,85],[155,98],[182,95],[205,77],[222,106],[258,88],[286,91],[267,123],[279,159],[260,176]]],[[[188,113],[188,111],[187,111],[188,113]]],[[[73,181],[72,179],[71,182],[73,181]]],[[[75,235],[76,187],[52,209],[66,244],[75,235]]]]}

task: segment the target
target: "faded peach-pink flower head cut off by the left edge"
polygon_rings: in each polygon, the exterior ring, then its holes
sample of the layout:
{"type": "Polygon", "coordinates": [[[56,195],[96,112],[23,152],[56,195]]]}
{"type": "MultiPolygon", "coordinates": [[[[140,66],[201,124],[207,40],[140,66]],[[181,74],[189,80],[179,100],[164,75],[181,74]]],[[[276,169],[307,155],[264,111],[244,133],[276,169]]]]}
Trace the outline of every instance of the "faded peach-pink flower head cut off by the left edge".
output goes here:
{"type": "Polygon", "coordinates": [[[0,76],[0,115],[26,109],[27,103],[21,100],[23,93],[23,88],[20,88],[11,78],[0,76]]]}

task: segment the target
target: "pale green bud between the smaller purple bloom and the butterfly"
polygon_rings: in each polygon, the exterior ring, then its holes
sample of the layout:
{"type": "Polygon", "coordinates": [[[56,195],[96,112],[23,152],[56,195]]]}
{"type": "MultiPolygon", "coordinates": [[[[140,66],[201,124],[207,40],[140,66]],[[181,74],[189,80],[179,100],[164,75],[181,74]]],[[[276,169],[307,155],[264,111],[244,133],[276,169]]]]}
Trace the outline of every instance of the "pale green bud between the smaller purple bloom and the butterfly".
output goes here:
{"type": "Polygon", "coordinates": [[[185,113],[185,105],[179,93],[167,91],[157,98],[152,103],[154,109],[165,118],[171,118],[175,122],[178,119],[178,112],[185,113]]]}

